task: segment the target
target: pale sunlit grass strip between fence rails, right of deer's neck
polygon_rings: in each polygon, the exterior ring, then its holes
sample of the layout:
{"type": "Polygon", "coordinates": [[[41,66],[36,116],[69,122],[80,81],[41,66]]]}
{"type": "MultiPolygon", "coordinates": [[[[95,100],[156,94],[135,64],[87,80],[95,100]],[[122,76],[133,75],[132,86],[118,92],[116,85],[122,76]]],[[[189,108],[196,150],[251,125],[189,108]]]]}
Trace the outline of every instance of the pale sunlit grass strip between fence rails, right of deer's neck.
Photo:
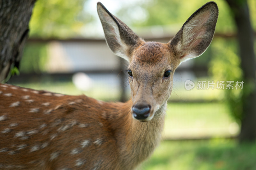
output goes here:
{"type": "Polygon", "coordinates": [[[239,126],[226,103],[169,103],[163,137],[237,135],[239,126]]]}

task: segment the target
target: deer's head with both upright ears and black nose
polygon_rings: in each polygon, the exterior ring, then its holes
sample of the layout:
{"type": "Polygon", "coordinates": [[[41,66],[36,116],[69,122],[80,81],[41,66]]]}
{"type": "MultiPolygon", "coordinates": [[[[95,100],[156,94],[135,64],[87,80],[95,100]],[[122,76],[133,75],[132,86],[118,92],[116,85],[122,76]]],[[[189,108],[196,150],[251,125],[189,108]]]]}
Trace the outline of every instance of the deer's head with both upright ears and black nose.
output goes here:
{"type": "Polygon", "coordinates": [[[181,62],[203,54],[210,45],[218,18],[217,4],[209,2],[199,8],[167,44],[144,41],[100,2],[97,10],[108,47],[129,61],[132,116],[141,122],[150,121],[166,107],[175,69],[181,62]]]}

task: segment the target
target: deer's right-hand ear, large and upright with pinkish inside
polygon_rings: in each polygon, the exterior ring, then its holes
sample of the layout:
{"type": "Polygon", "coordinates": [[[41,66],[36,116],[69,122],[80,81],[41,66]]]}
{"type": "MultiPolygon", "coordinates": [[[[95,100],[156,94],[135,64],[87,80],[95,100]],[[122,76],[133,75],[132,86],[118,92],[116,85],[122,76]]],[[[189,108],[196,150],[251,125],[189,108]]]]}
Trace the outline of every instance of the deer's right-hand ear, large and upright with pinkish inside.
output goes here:
{"type": "Polygon", "coordinates": [[[180,62],[198,57],[208,48],[212,41],[218,13],[215,2],[204,4],[188,18],[168,43],[180,62]]]}

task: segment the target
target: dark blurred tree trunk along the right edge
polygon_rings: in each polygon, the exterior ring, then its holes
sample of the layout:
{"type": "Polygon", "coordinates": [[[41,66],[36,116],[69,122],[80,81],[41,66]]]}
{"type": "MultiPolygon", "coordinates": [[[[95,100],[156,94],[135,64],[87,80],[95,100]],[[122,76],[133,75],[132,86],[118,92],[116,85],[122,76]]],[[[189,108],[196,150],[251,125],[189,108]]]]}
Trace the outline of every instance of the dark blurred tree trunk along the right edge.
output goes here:
{"type": "Polygon", "coordinates": [[[253,29],[246,0],[226,0],[234,14],[238,44],[243,70],[243,118],[239,142],[254,142],[256,139],[256,80],[253,29]]]}

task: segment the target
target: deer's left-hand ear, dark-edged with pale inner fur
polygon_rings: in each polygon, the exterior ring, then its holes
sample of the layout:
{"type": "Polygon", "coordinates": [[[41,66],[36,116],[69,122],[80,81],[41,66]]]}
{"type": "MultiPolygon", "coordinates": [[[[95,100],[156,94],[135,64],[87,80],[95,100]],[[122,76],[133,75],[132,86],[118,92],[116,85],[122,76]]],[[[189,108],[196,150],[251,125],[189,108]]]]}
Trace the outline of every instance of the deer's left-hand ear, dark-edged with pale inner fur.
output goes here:
{"type": "Polygon", "coordinates": [[[143,40],[120,19],[112,15],[100,2],[97,3],[97,11],[108,47],[115,55],[129,61],[132,51],[143,40]]]}

